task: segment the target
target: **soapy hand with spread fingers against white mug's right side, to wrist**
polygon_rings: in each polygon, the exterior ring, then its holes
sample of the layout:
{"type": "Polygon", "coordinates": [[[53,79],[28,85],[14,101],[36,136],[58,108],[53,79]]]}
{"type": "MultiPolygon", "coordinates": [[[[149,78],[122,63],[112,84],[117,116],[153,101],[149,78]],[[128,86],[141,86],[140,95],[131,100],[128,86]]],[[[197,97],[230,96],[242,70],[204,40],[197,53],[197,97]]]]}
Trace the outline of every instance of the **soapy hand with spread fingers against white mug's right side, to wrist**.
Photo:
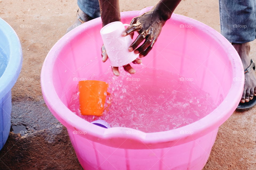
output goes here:
{"type": "Polygon", "coordinates": [[[153,48],[165,22],[166,20],[161,17],[156,8],[133,18],[130,27],[122,34],[123,36],[131,35],[133,37],[134,31],[139,33],[136,40],[130,45],[129,51],[134,50],[134,53],[139,54],[140,58],[145,57],[153,48]],[[142,41],[144,41],[144,43],[138,47],[142,41]]]}

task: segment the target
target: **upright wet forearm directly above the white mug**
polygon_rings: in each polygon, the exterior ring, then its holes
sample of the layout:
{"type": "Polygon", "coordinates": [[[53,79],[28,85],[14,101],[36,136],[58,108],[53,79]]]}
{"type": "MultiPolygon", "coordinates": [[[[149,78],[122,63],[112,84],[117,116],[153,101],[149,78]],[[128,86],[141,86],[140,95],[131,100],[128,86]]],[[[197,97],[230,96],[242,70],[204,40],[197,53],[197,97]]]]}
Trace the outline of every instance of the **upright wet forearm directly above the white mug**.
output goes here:
{"type": "Polygon", "coordinates": [[[119,0],[99,0],[99,7],[101,11],[102,26],[121,20],[119,0]]]}

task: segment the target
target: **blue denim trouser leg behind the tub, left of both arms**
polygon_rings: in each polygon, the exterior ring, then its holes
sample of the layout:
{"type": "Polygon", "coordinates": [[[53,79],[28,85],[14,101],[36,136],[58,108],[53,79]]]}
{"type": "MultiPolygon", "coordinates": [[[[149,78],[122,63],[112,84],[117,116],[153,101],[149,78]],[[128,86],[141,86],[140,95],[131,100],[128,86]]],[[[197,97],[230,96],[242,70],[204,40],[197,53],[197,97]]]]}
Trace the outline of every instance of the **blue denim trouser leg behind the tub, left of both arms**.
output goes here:
{"type": "Polygon", "coordinates": [[[77,5],[83,12],[92,18],[98,18],[101,16],[98,0],[77,0],[77,5]]]}

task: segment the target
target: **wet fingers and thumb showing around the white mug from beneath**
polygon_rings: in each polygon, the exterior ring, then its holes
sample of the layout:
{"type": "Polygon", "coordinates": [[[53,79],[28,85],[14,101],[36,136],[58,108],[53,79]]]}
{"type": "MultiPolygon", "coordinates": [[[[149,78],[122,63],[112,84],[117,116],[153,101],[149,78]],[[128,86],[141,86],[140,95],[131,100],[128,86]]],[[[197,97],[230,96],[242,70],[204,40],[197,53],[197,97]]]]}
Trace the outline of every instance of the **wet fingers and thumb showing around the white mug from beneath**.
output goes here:
{"type": "MultiPolygon", "coordinates": [[[[102,47],[101,47],[101,56],[102,56],[102,61],[106,62],[108,57],[107,57],[107,53],[106,53],[106,49],[105,49],[104,45],[102,45],[102,47]]],[[[134,64],[140,64],[141,62],[142,62],[142,60],[138,59],[138,58],[133,61],[134,64]]],[[[119,71],[118,71],[118,67],[111,66],[111,68],[112,68],[112,72],[113,72],[113,74],[115,76],[119,76],[120,75],[119,71]]],[[[123,68],[125,69],[125,71],[127,71],[130,74],[134,74],[135,73],[135,69],[133,67],[131,67],[130,64],[127,64],[127,65],[123,66],[123,68]]]]}

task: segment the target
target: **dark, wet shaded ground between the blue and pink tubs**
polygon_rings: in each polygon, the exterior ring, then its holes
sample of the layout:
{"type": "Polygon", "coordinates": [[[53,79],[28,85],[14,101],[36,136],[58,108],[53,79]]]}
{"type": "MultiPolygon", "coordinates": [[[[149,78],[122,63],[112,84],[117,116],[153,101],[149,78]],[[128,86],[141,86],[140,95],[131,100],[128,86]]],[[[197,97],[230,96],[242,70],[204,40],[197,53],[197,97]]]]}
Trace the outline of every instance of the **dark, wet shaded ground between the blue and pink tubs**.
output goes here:
{"type": "Polygon", "coordinates": [[[48,110],[44,100],[14,101],[10,132],[0,151],[0,169],[82,170],[66,128],[48,110]],[[21,136],[23,135],[23,136],[21,136]]]}

